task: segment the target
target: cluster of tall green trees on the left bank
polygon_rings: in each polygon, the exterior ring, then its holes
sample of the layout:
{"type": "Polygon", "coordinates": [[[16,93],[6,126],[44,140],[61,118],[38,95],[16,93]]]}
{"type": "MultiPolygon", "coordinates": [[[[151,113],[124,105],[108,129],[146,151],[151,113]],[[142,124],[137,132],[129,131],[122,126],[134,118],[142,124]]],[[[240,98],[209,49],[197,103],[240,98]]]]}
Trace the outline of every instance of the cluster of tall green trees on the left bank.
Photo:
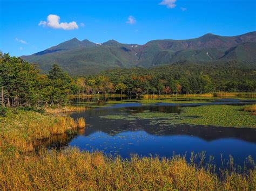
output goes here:
{"type": "Polygon", "coordinates": [[[0,92],[3,107],[58,106],[67,101],[67,95],[77,91],[71,77],[57,65],[53,65],[49,75],[39,74],[35,65],[21,58],[1,55],[0,92]]]}

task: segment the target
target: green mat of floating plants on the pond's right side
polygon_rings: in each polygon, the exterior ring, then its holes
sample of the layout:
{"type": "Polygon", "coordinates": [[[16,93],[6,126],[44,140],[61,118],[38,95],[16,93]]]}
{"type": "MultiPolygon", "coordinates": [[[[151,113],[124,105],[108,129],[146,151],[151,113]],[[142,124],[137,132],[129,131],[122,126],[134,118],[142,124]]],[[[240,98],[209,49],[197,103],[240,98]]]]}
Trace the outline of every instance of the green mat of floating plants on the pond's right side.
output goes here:
{"type": "Polygon", "coordinates": [[[202,105],[198,107],[183,107],[180,114],[166,112],[139,112],[131,115],[107,115],[102,118],[125,119],[149,119],[152,125],[212,125],[256,128],[256,116],[243,110],[242,106],[235,105],[202,105]]]}

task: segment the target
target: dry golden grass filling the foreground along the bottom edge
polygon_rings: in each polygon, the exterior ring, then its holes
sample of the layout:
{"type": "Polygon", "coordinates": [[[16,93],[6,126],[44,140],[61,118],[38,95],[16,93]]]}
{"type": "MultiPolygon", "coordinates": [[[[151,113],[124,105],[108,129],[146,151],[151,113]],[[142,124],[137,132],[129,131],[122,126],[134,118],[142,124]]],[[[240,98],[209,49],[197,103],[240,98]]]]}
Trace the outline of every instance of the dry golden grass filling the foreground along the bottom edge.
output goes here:
{"type": "Polygon", "coordinates": [[[0,160],[0,190],[255,190],[255,178],[255,169],[218,177],[180,156],[122,160],[68,149],[0,160]]]}

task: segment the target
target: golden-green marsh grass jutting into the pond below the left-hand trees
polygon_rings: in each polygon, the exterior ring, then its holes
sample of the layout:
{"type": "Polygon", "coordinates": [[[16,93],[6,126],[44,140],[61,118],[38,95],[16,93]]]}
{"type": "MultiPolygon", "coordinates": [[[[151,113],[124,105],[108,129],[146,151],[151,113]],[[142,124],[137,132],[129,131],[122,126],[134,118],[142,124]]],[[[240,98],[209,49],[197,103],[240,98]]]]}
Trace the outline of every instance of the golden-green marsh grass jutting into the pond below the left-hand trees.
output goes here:
{"type": "Polygon", "coordinates": [[[6,117],[0,117],[0,153],[32,151],[35,140],[63,134],[77,127],[77,122],[71,117],[8,109],[6,117]]]}

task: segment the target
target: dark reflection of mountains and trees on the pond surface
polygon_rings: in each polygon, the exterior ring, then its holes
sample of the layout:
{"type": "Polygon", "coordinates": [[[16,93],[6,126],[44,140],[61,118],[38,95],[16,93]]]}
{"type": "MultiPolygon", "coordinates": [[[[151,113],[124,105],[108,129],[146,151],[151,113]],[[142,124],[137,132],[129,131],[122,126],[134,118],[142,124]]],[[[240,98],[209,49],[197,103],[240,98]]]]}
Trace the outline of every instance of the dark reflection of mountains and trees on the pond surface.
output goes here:
{"type": "Polygon", "coordinates": [[[157,136],[171,136],[171,135],[189,135],[196,136],[201,139],[211,141],[220,138],[237,138],[245,140],[247,142],[256,143],[256,130],[251,128],[223,128],[214,126],[199,126],[199,125],[170,125],[159,126],[150,125],[149,120],[135,120],[126,121],[122,119],[110,120],[100,118],[105,115],[117,115],[126,114],[131,115],[138,112],[144,112],[146,110],[152,112],[167,112],[178,113],[180,112],[180,106],[170,105],[138,105],[138,104],[118,104],[110,108],[97,108],[80,112],[79,114],[72,114],[74,118],[85,117],[87,129],[85,136],[89,136],[94,132],[104,132],[108,135],[117,135],[123,131],[138,131],[143,130],[150,135],[157,136]],[[121,106],[120,106],[121,105],[121,106]],[[137,107],[126,107],[125,105],[137,105],[137,107]],[[119,106],[119,107],[117,107],[119,106]]]}

